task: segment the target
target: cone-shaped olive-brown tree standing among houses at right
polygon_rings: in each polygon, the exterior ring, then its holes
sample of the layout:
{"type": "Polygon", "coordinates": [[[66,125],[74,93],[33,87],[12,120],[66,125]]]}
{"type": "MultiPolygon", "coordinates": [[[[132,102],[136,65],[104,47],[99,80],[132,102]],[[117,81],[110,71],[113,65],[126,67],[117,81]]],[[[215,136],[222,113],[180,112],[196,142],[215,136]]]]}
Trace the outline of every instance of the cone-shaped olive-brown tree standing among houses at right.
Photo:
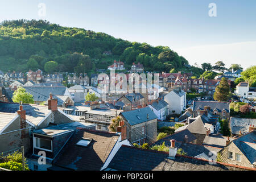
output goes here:
{"type": "Polygon", "coordinates": [[[220,84],[215,89],[213,98],[216,101],[228,101],[229,92],[230,87],[228,81],[226,80],[225,77],[223,77],[220,81],[220,84]]]}

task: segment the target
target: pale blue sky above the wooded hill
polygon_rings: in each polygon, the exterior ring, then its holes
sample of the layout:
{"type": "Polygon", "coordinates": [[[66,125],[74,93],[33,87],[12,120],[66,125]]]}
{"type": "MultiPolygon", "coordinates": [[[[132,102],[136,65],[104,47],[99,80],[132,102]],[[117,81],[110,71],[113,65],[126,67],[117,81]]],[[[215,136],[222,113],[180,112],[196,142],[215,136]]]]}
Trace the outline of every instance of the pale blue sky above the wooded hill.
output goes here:
{"type": "Polygon", "coordinates": [[[191,65],[221,60],[226,67],[241,64],[246,69],[256,65],[255,10],[255,0],[9,0],[0,4],[0,21],[46,19],[168,46],[191,65]],[[209,7],[212,3],[216,9],[209,7]]]}

